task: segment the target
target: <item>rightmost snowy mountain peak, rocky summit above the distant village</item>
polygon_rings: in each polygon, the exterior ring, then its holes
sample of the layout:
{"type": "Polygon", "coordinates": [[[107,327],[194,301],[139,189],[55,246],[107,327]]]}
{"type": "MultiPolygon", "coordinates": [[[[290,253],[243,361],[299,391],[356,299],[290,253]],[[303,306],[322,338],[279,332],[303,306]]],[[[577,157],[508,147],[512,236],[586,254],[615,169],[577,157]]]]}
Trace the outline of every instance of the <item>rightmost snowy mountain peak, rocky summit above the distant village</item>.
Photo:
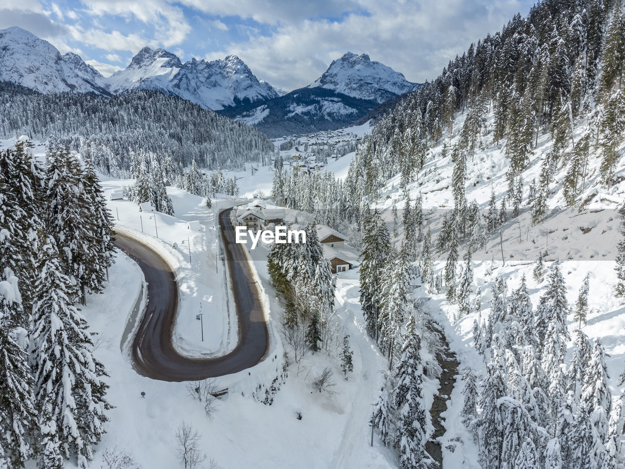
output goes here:
{"type": "Polygon", "coordinates": [[[371,61],[367,54],[347,52],[332,61],[321,77],[310,86],[321,86],[354,98],[383,103],[398,94],[413,91],[419,85],[407,81],[403,74],[392,68],[371,61]]]}

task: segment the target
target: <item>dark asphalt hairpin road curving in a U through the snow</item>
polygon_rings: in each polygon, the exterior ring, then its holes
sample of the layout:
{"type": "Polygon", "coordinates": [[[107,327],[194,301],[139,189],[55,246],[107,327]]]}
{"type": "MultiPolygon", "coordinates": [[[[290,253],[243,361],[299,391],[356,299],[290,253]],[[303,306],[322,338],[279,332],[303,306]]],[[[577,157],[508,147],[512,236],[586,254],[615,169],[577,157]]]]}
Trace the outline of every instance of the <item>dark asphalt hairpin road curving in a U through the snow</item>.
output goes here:
{"type": "Polygon", "coordinates": [[[251,368],[266,355],[269,348],[267,323],[243,248],[234,242],[230,211],[219,213],[219,219],[239,320],[239,343],[219,358],[179,355],[172,344],[178,284],[171,268],[148,246],[128,236],[116,235],[115,245],[138,263],[148,283],[148,305],[133,339],[134,368],[139,374],[162,381],[203,380],[251,368]]]}

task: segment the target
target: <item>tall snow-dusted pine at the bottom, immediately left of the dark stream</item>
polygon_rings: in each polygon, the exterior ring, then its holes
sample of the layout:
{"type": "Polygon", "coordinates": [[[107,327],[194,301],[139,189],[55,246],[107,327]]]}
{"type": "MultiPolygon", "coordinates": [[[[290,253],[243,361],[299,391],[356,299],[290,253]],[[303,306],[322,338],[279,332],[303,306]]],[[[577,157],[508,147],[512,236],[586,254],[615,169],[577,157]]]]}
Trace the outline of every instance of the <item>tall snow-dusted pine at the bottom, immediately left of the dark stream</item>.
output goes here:
{"type": "Polygon", "coordinates": [[[426,416],[423,409],[421,337],[414,316],[406,324],[401,358],[397,362],[394,408],[397,409],[396,446],[401,469],[426,469],[426,416]]]}

